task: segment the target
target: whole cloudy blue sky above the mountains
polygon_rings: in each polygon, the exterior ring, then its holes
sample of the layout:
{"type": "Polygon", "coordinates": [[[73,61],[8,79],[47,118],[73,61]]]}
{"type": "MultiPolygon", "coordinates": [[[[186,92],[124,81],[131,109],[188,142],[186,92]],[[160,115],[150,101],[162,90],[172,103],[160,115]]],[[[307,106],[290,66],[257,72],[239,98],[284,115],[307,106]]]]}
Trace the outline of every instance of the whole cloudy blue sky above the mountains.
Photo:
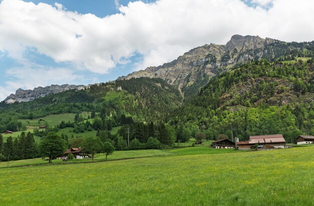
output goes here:
{"type": "Polygon", "coordinates": [[[314,40],[312,0],[0,0],[0,100],[115,80],[234,34],[314,40]]]}

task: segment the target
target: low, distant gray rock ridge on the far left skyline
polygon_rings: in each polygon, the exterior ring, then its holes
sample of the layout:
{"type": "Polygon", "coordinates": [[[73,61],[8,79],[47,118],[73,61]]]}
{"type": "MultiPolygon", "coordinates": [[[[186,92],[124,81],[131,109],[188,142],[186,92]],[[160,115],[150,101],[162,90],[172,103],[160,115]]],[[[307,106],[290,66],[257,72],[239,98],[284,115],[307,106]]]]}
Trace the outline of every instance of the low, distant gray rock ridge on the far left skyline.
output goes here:
{"type": "MultiPolygon", "coordinates": [[[[62,91],[70,90],[70,89],[84,89],[86,86],[84,85],[69,85],[69,84],[63,84],[63,85],[57,85],[52,84],[51,86],[46,87],[36,87],[33,90],[28,89],[24,90],[19,88],[15,94],[10,94],[4,101],[6,103],[14,103],[16,101],[22,102],[22,101],[31,101],[38,97],[47,96],[49,94],[54,93],[60,93],[62,91]]],[[[88,86],[87,86],[88,87],[88,86]]]]}

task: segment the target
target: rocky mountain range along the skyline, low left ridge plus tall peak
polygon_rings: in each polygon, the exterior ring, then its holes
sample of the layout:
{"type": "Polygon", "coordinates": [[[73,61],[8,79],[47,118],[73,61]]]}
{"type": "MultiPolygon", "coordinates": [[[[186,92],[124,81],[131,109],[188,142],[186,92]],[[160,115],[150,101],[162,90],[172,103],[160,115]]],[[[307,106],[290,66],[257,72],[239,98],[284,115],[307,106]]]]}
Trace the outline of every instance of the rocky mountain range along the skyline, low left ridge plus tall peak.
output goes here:
{"type": "MultiPolygon", "coordinates": [[[[286,43],[259,36],[234,35],[226,45],[210,44],[194,48],[176,60],[157,67],[148,67],[121,76],[120,79],[138,77],[161,78],[179,89],[183,96],[191,96],[206,85],[213,76],[229,71],[244,62],[260,59],[274,61],[291,60],[295,57],[310,57],[314,53],[314,42],[286,43]]],[[[31,101],[53,93],[69,89],[83,89],[84,85],[51,85],[37,87],[33,90],[19,88],[15,94],[9,95],[6,103],[31,101]]]]}

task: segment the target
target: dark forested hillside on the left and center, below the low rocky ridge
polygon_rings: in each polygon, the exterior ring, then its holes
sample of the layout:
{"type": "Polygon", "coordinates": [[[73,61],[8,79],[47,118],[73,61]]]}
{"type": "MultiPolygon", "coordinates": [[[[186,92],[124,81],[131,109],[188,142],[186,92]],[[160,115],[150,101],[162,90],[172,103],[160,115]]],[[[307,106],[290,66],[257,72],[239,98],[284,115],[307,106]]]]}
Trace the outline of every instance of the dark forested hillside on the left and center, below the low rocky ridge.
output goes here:
{"type": "Polygon", "coordinates": [[[120,125],[121,115],[135,121],[163,121],[181,105],[180,92],[161,79],[137,78],[92,85],[85,90],[68,90],[29,102],[0,104],[0,133],[18,131],[19,119],[50,114],[96,112],[120,125]]]}

